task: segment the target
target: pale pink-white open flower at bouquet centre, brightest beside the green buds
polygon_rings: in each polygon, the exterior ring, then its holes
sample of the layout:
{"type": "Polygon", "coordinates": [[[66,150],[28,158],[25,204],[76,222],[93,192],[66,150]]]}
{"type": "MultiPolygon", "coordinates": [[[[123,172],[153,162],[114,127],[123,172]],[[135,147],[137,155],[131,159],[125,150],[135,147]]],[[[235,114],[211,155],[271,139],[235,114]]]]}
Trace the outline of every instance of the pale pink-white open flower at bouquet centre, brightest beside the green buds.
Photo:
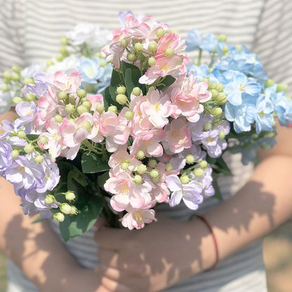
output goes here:
{"type": "Polygon", "coordinates": [[[175,112],[176,107],[173,107],[168,95],[151,87],[146,95],[146,100],[140,105],[140,110],[142,114],[149,117],[153,126],[163,128],[168,124],[167,118],[175,112]]]}

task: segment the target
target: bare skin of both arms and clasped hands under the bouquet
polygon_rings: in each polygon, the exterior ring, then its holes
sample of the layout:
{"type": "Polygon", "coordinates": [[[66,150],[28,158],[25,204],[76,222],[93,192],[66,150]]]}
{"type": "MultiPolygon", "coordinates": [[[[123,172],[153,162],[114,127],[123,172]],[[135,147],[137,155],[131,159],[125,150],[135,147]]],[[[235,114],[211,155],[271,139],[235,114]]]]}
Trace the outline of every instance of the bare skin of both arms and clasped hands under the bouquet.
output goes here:
{"type": "MultiPolygon", "coordinates": [[[[0,119],[13,119],[13,114],[0,119]]],[[[291,131],[281,128],[277,146],[261,155],[248,183],[204,215],[218,241],[219,260],[260,239],[291,215],[291,131]]],[[[23,215],[11,184],[1,178],[0,187],[1,251],[39,291],[160,291],[215,263],[214,241],[201,220],[159,217],[143,230],[100,227],[95,240],[101,265],[86,270],[46,223],[32,224],[34,218],[23,215]]]]}

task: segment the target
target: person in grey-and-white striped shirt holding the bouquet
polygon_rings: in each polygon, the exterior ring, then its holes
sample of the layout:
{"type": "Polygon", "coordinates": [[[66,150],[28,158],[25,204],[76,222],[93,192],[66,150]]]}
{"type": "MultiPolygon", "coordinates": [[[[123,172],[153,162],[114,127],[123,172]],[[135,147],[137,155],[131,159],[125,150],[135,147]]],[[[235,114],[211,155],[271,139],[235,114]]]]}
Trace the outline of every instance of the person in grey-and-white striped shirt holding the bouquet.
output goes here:
{"type": "MultiPolygon", "coordinates": [[[[114,29],[119,11],[131,10],[167,22],[191,45],[187,32],[193,27],[225,33],[258,52],[274,79],[291,85],[291,4],[233,2],[3,1],[1,69],[50,58],[56,40],[77,22],[114,29]]],[[[291,129],[279,127],[277,145],[260,153],[255,168],[241,164],[241,154],[226,152],[234,176],[219,181],[224,201],[207,199],[196,212],[183,201],[161,205],[157,223],[137,231],[98,222],[66,245],[54,224],[32,224],[22,214],[13,187],[1,179],[0,246],[12,260],[8,291],[267,291],[260,238],[291,215],[290,136],[291,129]]]]}

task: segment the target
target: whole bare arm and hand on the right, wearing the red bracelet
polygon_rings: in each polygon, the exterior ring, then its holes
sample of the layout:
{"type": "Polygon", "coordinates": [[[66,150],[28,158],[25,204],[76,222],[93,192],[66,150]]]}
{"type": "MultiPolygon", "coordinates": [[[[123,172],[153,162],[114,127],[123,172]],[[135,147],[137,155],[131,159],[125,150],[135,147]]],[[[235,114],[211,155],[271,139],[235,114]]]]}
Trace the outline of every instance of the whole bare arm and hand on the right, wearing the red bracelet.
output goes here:
{"type": "MultiPolygon", "coordinates": [[[[263,237],[291,215],[289,137],[291,129],[281,128],[277,147],[255,168],[248,183],[236,196],[204,214],[218,241],[220,260],[263,237]]],[[[158,218],[143,230],[104,228],[95,238],[107,277],[132,291],[159,291],[215,262],[214,242],[201,220],[179,223],[158,218]]]]}

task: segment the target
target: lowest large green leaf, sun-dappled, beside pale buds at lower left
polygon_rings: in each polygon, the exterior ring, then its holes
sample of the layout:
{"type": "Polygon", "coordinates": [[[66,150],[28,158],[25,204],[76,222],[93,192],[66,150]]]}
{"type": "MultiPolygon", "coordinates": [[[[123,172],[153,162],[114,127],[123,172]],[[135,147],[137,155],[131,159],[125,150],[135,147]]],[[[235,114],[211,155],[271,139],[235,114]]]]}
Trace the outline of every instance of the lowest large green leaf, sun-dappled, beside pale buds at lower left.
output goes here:
{"type": "Polygon", "coordinates": [[[77,215],[66,215],[65,220],[60,223],[60,232],[65,241],[72,237],[84,234],[95,223],[102,210],[103,199],[94,197],[83,208],[79,209],[77,215]]]}

